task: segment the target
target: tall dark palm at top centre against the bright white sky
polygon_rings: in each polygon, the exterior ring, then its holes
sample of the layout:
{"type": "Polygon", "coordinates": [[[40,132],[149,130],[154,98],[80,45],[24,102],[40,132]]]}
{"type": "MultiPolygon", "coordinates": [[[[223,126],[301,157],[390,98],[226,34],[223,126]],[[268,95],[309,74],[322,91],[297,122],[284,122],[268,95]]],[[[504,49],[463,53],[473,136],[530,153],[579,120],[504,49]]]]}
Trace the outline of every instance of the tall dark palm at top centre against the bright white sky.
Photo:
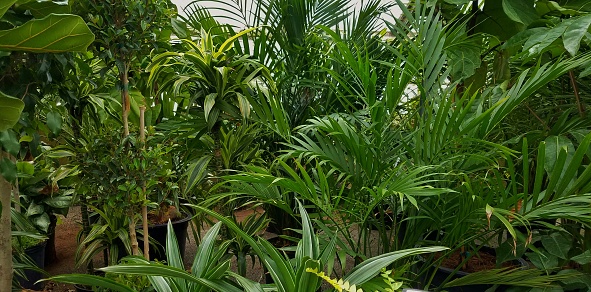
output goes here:
{"type": "MultiPolygon", "coordinates": [[[[199,8],[201,2],[189,5],[190,23],[202,26],[208,20],[212,30],[220,31],[211,23],[216,8],[199,8]]],[[[319,27],[342,30],[347,39],[359,43],[371,39],[384,5],[368,1],[349,17],[350,1],[322,0],[258,0],[208,1],[215,2],[223,15],[238,23],[239,29],[256,28],[244,36],[237,46],[240,53],[258,58],[269,67],[276,78],[279,99],[287,112],[290,126],[302,124],[311,113],[333,112],[338,99],[327,90],[326,70],[332,64],[328,58],[332,44],[319,27]]],[[[222,18],[223,19],[223,18],[222,18]]],[[[231,30],[231,29],[230,29],[231,30]]],[[[228,32],[228,30],[226,30],[228,32]]],[[[229,32],[232,33],[232,32],[229,32]]]]}

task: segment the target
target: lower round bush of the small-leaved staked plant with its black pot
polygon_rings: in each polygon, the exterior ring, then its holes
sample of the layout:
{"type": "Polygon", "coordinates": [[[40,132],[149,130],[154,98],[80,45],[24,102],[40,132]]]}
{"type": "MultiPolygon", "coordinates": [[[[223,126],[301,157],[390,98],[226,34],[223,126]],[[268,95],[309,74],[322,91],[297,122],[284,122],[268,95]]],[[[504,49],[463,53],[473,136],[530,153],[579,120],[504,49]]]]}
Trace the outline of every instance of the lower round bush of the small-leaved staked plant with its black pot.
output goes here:
{"type": "MultiPolygon", "coordinates": [[[[162,222],[170,219],[175,221],[175,226],[179,226],[177,234],[184,248],[190,216],[178,211],[178,187],[170,158],[172,146],[161,142],[150,136],[143,143],[135,135],[120,140],[115,131],[105,132],[86,144],[88,149],[80,170],[87,190],[93,192],[90,204],[95,210],[108,210],[109,217],[122,218],[128,226],[133,220],[133,226],[136,226],[142,206],[147,205],[151,209],[147,218],[154,230],[149,233],[155,241],[164,246],[165,232],[162,237],[158,231],[163,226],[165,230],[162,222]]],[[[104,224],[104,221],[98,224],[104,224]]],[[[128,231],[131,233],[131,230],[128,231]]],[[[137,247],[143,246],[141,239],[137,247]]],[[[122,240],[119,247],[128,254],[134,253],[131,234],[122,240]]],[[[151,252],[150,257],[161,258],[162,255],[158,248],[151,252]]]]}

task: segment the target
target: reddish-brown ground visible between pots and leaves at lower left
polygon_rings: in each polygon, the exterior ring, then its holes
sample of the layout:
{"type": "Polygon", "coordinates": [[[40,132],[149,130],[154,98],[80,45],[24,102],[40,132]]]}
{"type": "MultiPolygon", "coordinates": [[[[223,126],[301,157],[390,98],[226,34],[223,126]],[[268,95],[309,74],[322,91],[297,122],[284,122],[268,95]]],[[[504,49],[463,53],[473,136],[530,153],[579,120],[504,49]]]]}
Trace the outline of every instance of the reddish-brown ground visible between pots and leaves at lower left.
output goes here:
{"type": "MultiPolygon", "coordinates": [[[[236,217],[238,220],[248,216],[248,214],[252,213],[253,211],[244,210],[239,211],[236,213],[236,217]]],[[[58,221],[58,225],[56,227],[56,252],[57,252],[57,260],[53,263],[50,263],[48,266],[45,267],[45,270],[50,275],[60,275],[60,274],[69,274],[69,273],[84,273],[84,268],[76,269],[74,267],[74,258],[76,254],[76,236],[81,229],[80,225],[80,208],[74,207],[70,208],[70,212],[68,213],[67,217],[61,217],[58,221]]],[[[190,228],[189,228],[190,229],[190,228]]],[[[193,258],[195,257],[196,253],[196,244],[193,240],[193,236],[190,234],[187,236],[187,246],[185,250],[185,258],[184,262],[186,266],[190,266],[193,262],[193,258]]],[[[96,265],[102,266],[101,257],[97,257],[96,265]]],[[[260,279],[262,278],[263,272],[260,266],[255,265],[254,267],[249,265],[248,267],[248,277],[251,279],[260,279]]],[[[45,287],[47,292],[70,292],[76,291],[73,285],[68,284],[58,284],[58,283],[48,283],[45,287]]]]}

